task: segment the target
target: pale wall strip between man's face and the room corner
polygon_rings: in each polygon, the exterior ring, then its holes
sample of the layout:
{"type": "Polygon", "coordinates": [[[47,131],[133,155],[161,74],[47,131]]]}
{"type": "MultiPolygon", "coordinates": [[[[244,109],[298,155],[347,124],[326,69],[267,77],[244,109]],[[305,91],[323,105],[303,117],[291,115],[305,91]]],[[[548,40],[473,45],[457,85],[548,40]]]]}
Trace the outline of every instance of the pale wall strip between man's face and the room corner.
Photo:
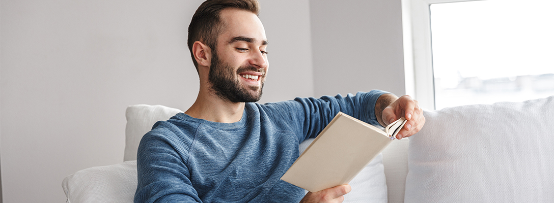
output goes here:
{"type": "Polygon", "coordinates": [[[259,102],[313,97],[309,1],[259,1],[269,41],[269,72],[259,102]]]}

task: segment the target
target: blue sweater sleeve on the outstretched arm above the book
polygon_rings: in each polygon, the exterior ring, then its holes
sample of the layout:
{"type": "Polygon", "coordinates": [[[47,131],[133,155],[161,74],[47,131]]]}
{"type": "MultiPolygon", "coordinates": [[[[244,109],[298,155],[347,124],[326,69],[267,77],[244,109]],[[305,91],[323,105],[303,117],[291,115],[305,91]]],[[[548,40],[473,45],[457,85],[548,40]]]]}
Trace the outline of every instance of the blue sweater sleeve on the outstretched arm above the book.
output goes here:
{"type": "MultiPolygon", "coordinates": [[[[356,117],[371,125],[379,125],[375,116],[375,104],[382,94],[382,90],[370,92],[358,92],[356,95],[348,94],[346,97],[338,94],[335,97],[323,96],[317,98],[296,98],[288,101],[288,111],[293,113],[294,119],[299,120],[295,128],[301,130],[299,141],[316,137],[339,111],[356,117]]],[[[390,93],[388,93],[390,94],[390,93]]]]}

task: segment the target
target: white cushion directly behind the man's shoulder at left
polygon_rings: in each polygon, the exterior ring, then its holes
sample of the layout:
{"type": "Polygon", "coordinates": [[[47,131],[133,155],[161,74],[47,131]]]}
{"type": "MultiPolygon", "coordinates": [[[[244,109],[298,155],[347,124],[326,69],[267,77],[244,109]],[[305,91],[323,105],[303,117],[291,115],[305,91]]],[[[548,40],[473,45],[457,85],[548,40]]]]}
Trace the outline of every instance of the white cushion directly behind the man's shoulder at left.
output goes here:
{"type": "Polygon", "coordinates": [[[170,119],[175,114],[183,112],[179,109],[162,105],[137,104],[128,106],[125,111],[127,126],[125,127],[125,154],[123,161],[137,159],[139,143],[146,132],[152,130],[152,126],[161,120],[170,119]]]}

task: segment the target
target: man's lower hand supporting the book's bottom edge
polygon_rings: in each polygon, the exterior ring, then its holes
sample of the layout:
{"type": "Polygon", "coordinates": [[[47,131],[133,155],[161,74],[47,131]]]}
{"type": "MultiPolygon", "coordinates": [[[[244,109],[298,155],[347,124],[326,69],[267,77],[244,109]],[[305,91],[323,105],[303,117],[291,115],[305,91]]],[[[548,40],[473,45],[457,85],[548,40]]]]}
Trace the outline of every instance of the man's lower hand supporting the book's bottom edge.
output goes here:
{"type": "Polygon", "coordinates": [[[342,202],[345,200],[345,197],[342,195],[346,195],[347,193],[350,193],[352,188],[350,185],[338,185],[335,188],[329,188],[325,190],[321,190],[317,193],[311,193],[308,192],[304,198],[300,201],[300,203],[312,203],[312,202],[342,202]]]}

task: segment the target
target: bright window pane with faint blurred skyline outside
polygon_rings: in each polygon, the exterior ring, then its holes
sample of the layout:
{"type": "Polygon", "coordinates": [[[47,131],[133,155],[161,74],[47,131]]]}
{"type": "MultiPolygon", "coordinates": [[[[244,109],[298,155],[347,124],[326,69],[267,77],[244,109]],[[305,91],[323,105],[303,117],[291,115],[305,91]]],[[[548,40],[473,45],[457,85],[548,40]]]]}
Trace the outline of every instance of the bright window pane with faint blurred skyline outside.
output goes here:
{"type": "Polygon", "coordinates": [[[554,95],[554,1],[430,5],[435,108],[554,95]]]}

